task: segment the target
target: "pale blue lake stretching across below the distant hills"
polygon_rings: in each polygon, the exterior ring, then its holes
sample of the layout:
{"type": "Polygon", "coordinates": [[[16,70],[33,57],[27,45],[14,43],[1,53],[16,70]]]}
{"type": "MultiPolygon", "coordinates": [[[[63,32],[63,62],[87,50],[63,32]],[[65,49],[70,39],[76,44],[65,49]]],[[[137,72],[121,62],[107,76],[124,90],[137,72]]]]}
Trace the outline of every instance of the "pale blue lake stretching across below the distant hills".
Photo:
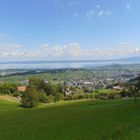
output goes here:
{"type": "MultiPolygon", "coordinates": [[[[64,68],[93,68],[110,64],[134,64],[134,62],[1,62],[0,69],[64,69],[64,68]]],[[[137,62],[140,64],[140,62],[137,62]]]]}

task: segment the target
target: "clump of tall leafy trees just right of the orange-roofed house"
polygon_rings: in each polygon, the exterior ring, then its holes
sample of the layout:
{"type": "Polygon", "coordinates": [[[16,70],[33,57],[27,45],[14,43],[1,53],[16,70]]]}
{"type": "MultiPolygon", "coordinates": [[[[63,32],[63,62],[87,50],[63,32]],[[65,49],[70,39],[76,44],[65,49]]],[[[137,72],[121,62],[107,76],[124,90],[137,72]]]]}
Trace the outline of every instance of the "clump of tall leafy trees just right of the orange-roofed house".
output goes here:
{"type": "Polygon", "coordinates": [[[21,102],[24,107],[33,107],[38,103],[57,102],[64,98],[61,84],[45,82],[39,78],[30,78],[29,85],[22,93],[21,102]]]}

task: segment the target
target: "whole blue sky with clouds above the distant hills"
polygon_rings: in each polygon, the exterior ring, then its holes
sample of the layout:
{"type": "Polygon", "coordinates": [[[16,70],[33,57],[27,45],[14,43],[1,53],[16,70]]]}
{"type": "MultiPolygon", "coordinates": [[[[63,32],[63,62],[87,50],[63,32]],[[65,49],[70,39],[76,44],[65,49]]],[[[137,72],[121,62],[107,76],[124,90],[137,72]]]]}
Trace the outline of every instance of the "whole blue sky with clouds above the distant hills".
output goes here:
{"type": "Polygon", "coordinates": [[[0,0],[0,60],[140,55],[140,0],[0,0]]]}

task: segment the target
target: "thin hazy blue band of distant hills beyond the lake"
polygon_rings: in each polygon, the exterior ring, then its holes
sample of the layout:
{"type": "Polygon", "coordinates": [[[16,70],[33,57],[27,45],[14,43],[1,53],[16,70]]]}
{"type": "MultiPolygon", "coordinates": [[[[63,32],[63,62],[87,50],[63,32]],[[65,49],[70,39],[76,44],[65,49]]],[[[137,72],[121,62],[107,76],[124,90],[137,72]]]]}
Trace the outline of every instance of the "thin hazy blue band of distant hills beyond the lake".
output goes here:
{"type": "Polygon", "coordinates": [[[39,63],[82,63],[82,62],[140,62],[140,56],[119,59],[101,60],[26,60],[26,61],[0,61],[0,64],[39,64],[39,63]]]}

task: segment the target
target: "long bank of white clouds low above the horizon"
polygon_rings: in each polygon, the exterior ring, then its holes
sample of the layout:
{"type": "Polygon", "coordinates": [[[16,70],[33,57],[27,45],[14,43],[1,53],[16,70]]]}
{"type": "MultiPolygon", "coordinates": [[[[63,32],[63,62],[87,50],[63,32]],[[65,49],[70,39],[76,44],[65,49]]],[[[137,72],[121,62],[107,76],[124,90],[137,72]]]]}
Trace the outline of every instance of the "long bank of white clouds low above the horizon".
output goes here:
{"type": "Polygon", "coordinates": [[[42,44],[37,49],[25,50],[18,44],[0,45],[0,59],[75,60],[140,55],[140,47],[121,42],[115,48],[84,49],[78,43],[49,46],[42,44]]]}

